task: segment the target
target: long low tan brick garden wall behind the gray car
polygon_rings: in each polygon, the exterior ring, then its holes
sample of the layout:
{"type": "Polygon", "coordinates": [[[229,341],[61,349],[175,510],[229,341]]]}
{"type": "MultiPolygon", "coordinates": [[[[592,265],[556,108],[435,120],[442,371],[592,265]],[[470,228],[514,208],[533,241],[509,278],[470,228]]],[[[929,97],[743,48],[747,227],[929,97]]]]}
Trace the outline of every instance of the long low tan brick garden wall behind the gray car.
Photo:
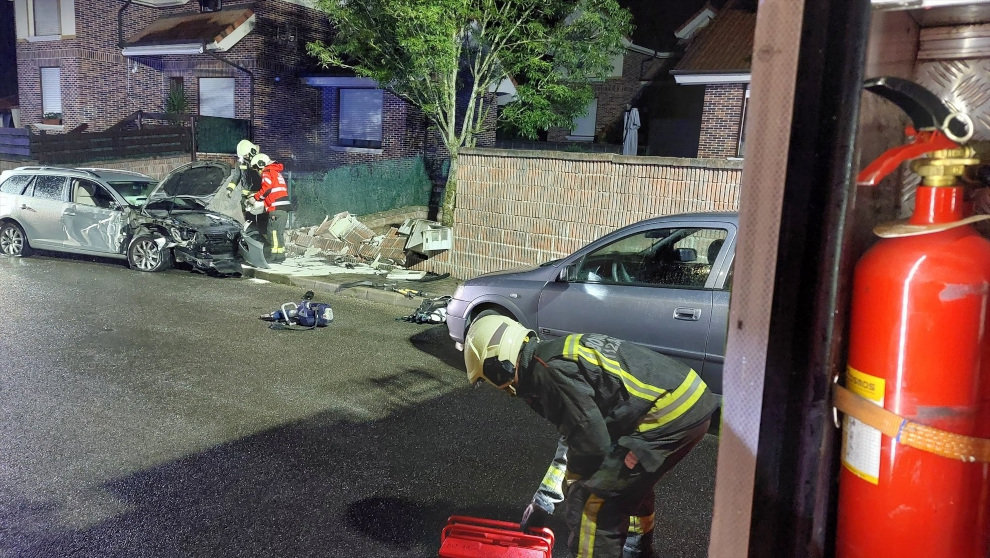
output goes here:
{"type": "Polygon", "coordinates": [[[737,211],[742,161],[465,149],[453,249],[417,265],[467,279],[535,265],[648,217],[737,211]]]}

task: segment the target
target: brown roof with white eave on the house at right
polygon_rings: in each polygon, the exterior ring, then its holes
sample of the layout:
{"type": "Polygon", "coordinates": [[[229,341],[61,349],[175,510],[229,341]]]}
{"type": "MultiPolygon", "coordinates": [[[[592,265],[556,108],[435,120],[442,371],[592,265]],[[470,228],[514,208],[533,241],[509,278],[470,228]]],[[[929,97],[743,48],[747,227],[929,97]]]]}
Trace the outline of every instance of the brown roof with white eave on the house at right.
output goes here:
{"type": "MultiPolygon", "coordinates": [[[[723,10],[691,41],[684,57],[670,73],[675,78],[684,75],[745,75],[744,81],[749,81],[755,32],[755,12],[723,10]]],[[[678,79],[678,83],[683,82],[678,79]]]]}

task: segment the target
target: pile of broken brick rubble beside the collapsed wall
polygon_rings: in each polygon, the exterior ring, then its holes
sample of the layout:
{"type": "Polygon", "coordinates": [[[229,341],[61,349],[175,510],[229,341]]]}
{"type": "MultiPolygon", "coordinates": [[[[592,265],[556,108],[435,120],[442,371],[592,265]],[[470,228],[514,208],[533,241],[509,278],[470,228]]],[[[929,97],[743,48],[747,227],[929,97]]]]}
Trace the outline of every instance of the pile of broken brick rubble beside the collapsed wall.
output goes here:
{"type": "Polygon", "coordinates": [[[422,260],[451,247],[450,228],[434,221],[406,219],[401,226],[376,234],[346,211],[327,216],[319,225],[286,231],[286,239],[286,250],[292,254],[379,268],[406,266],[408,252],[422,260]]]}

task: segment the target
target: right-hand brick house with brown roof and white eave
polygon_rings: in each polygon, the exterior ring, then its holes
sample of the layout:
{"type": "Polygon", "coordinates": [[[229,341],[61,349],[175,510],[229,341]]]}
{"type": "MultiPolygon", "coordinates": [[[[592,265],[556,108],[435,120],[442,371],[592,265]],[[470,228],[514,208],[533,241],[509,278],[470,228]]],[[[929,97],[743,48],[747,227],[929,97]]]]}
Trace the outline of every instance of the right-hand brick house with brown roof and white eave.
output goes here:
{"type": "MultiPolygon", "coordinates": [[[[697,17],[711,18],[704,13],[697,17]]],[[[730,1],[710,24],[699,27],[696,21],[682,27],[690,42],[670,72],[679,86],[704,88],[696,156],[742,157],[756,10],[730,1]]]]}

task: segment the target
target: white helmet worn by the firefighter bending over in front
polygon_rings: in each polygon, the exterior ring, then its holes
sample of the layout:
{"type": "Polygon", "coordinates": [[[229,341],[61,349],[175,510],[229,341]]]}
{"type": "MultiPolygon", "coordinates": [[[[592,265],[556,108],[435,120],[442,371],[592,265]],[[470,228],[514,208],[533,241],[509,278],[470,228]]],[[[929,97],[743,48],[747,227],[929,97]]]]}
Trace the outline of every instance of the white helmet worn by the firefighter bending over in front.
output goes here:
{"type": "Polygon", "coordinates": [[[505,316],[482,316],[471,324],[464,341],[464,367],[468,382],[482,380],[516,394],[515,375],[519,352],[536,332],[505,316]]]}

